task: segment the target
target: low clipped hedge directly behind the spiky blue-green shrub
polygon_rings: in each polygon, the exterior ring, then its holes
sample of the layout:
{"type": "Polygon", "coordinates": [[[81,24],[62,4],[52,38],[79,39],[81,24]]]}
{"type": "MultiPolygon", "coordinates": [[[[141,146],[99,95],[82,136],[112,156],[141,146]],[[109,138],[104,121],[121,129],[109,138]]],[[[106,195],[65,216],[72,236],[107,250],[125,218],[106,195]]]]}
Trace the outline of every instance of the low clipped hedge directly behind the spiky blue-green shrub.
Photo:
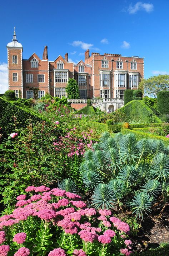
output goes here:
{"type": "Polygon", "coordinates": [[[162,137],[162,136],[158,136],[158,135],[154,135],[154,134],[149,134],[149,133],[146,133],[146,132],[141,132],[141,131],[136,131],[136,130],[130,130],[130,129],[126,129],[126,128],[123,128],[123,127],[121,128],[121,132],[123,134],[129,133],[129,132],[133,132],[136,135],[136,138],[138,140],[141,140],[143,138],[146,138],[146,139],[156,139],[156,140],[162,140],[166,146],[169,145],[169,138],[165,138],[165,137],[162,137]]]}

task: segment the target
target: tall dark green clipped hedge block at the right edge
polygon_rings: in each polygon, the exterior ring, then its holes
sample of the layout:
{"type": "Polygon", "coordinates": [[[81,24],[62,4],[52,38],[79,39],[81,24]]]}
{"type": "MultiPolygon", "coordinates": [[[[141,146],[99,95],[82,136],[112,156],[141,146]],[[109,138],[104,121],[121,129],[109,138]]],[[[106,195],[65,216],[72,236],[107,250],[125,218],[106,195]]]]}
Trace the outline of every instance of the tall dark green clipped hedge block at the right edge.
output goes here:
{"type": "Polygon", "coordinates": [[[157,110],[161,114],[169,114],[169,91],[158,92],[157,110]]]}

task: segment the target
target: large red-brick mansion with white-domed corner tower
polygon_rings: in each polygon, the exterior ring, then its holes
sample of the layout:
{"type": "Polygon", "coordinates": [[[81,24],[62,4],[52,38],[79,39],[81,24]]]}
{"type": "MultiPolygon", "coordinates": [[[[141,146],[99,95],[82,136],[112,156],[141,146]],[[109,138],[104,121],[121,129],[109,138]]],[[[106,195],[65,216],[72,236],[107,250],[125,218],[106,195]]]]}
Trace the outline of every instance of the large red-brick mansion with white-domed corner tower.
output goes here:
{"type": "Polygon", "coordinates": [[[124,98],[124,90],[137,89],[144,77],[144,59],[138,56],[124,57],[120,54],[101,55],[85,51],[84,60],[78,64],[69,61],[68,53],[59,55],[54,61],[48,59],[45,46],[42,59],[33,53],[23,59],[23,46],[14,31],[12,42],[7,45],[8,84],[16,97],[38,98],[49,93],[55,97],[66,96],[65,87],[69,78],[79,85],[79,98],[124,98]]]}

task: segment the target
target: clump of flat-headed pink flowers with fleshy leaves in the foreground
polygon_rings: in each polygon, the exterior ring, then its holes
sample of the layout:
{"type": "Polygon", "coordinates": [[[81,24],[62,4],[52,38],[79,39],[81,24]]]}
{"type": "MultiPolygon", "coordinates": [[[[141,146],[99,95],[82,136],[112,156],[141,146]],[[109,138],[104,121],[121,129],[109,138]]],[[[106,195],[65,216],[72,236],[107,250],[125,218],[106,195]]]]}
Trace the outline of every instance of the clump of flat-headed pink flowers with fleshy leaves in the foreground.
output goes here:
{"type": "Polygon", "coordinates": [[[79,195],[59,188],[29,186],[17,199],[21,204],[0,217],[1,256],[8,252],[15,256],[132,253],[129,225],[113,217],[110,210],[97,213],[86,208],[79,195]]]}

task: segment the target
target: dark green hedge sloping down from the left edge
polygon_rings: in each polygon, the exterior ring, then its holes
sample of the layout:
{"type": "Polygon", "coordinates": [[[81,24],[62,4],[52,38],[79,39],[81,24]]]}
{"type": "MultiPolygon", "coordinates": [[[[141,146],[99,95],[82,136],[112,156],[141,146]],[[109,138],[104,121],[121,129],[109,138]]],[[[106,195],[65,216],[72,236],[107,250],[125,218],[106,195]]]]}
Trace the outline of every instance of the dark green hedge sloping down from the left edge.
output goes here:
{"type": "Polygon", "coordinates": [[[15,106],[10,101],[0,98],[0,127],[4,136],[14,132],[14,117],[16,118],[17,128],[26,127],[26,120],[33,123],[47,121],[40,114],[33,112],[30,108],[15,106]]]}

